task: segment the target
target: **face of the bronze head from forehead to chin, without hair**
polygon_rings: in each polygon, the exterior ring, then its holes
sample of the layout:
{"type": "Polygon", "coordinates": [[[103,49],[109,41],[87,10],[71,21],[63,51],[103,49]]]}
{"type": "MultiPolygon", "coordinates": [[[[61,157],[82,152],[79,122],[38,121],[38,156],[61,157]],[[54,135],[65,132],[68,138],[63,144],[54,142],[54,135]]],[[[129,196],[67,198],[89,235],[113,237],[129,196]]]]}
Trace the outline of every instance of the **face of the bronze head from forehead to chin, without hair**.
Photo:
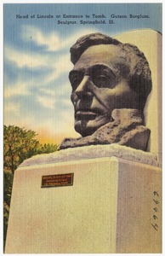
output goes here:
{"type": "Polygon", "coordinates": [[[69,78],[75,130],[83,137],[111,121],[115,108],[138,108],[128,84],[129,61],[116,45],[94,45],[83,52],[69,78]]]}

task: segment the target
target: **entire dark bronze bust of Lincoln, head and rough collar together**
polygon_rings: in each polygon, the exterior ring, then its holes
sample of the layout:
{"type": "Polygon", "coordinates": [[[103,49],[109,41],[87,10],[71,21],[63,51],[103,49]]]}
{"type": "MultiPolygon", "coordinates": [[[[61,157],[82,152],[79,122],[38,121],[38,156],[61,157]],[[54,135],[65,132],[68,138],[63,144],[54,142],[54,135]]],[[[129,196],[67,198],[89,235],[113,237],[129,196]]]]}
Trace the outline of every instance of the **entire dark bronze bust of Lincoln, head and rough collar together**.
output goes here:
{"type": "Polygon", "coordinates": [[[71,47],[69,74],[75,130],[60,149],[118,143],[146,150],[150,130],[144,108],[151,92],[151,70],[133,44],[122,44],[101,33],[79,38],[71,47]]]}

